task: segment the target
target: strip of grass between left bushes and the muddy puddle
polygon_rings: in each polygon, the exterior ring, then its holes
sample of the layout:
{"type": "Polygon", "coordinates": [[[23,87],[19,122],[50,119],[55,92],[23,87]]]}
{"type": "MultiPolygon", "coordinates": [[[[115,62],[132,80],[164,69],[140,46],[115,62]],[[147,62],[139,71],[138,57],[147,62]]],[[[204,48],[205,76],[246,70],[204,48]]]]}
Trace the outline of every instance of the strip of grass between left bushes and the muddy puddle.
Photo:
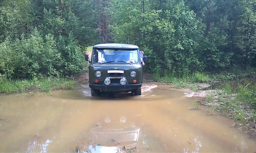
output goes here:
{"type": "Polygon", "coordinates": [[[75,81],[63,78],[3,79],[0,83],[0,93],[9,94],[31,90],[50,92],[52,89],[75,89],[75,85],[75,81]]]}

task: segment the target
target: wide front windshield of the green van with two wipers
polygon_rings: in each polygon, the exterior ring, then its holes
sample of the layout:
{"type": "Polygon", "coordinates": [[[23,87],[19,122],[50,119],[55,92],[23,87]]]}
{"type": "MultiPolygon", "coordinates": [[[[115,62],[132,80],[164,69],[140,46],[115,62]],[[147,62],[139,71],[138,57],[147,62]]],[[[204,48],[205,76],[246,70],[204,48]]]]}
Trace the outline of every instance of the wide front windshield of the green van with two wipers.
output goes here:
{"type": "Polygon", "coordinates": [[[93,62],[95,63],[105,63],[105,62],[138,63],[139,62],[138,50],[94,49],[93,62]]]}

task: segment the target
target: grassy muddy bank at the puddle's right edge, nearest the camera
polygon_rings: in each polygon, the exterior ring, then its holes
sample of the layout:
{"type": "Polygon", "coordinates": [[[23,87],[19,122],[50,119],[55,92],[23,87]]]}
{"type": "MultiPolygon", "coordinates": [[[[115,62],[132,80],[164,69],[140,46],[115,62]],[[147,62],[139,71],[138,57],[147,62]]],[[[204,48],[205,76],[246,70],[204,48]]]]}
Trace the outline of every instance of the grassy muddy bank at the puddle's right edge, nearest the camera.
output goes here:
{"type": "MultiPolygon", "coordinates": [[[[233,88],[229,82],[226,82],[221,94],[222,97],[220,97],[220,106],[218,106],[217,109],[227,113],[228,116],[232,117],[236,121],[240,121],[242,126],[245,126],[249,122],[252,123],[252,126],[255,126],[255,91],[256,86],[254,82],[239,84],[236,88],[233,88]],[[248,110],[250,107],[251,111],[248,110]],[[247,108],[247,110],[245,108],[247,108]]],[[[209,98],[207,100],[211,99],[209,98]]]]}

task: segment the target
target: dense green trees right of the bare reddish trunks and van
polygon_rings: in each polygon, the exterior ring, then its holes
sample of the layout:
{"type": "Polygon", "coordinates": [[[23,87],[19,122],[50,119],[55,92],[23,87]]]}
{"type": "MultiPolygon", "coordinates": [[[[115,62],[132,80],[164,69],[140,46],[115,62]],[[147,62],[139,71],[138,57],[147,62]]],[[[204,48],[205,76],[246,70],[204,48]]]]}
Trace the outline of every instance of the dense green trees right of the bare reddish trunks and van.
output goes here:
{"type": "Polygon", "coordinates": [[[112,0],[107,10],[115,42],[139,45],[153,72],[183,75],[255,66],[255,6],[248,0],[112,0]]]}

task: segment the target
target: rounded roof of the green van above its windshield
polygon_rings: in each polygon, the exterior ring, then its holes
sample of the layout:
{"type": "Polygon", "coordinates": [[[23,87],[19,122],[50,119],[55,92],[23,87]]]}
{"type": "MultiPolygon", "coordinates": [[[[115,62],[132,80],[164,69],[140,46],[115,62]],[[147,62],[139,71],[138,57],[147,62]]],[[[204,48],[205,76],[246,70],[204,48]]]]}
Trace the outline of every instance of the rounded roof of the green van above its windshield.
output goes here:
{"type": "Polygon", "coordinates": [[[116,44],[116,43],[109,43],[109,44],[98,44],[94,45],[93,48],[111,48],[111,49],[139,49],[136,45],[131,44],[116,44]]]}

